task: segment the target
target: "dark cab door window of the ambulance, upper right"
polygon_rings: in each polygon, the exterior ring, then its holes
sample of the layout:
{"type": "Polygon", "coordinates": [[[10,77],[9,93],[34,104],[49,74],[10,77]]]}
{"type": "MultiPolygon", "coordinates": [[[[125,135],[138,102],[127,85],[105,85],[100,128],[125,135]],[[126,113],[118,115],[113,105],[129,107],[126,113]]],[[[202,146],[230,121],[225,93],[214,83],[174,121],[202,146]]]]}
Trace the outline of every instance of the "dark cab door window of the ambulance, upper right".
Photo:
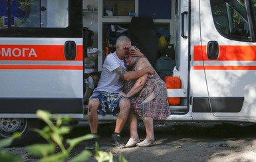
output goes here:
{"type": "Polygon", "coordinates": [[[251,41],[243,1],[211,0],[211,11],[215,27],[222,36],[233,40],[251,41]]]}

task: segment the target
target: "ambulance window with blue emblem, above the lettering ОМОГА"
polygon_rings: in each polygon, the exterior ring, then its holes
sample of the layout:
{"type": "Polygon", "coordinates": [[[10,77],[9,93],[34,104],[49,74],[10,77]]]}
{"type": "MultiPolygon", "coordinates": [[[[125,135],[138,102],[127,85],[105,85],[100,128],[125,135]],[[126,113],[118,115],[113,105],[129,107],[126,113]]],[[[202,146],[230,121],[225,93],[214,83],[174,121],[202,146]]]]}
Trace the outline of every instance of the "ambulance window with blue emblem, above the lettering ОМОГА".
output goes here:
{"type": "Polygon", "coordinates": [[[0,28],[66,28],[68,0],[12,0],[0,3],[0,28]]]}

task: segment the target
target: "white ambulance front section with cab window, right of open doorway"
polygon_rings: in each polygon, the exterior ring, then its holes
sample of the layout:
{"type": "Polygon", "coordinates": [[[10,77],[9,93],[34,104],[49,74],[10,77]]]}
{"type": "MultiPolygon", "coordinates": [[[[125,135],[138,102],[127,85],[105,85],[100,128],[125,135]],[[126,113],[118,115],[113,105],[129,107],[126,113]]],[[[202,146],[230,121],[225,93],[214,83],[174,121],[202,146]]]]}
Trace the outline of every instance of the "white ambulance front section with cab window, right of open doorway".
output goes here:
{"type": "Polygon", "coordinates": [[[193,71],[205,77],[201,89],[206,91],[193,98],[193,112],[249,121],[256,116],[255,1],[209,0],[198,5],[201,44],[194,48],[193,71]]]}

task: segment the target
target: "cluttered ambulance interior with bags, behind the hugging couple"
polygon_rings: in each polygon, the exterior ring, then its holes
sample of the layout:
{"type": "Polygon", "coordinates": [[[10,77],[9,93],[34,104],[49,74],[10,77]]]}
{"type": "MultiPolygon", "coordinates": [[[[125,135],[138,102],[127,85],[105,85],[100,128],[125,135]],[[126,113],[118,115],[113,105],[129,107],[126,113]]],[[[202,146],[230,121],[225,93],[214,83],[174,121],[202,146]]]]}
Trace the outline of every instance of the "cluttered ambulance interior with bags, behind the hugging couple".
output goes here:
{"type": "MultiPolygon", "coordinates": [[[[128,1],[128,3],[130,2],[131,0],[128,1]]],[[[169,20],[153,19],[150,16],[143,15],[142,17],[130,17],[130,22],[120,22],[117,20],[119,17],[116,17],[116,22],[111,22],[108,18],[112,17],[112,14],[115,13],[113,11],[109,16],[108,12],[111,11],[107,10],[108,7],[114,6],[116,1],[104,1],[104,6],[102,7],[106,8],[102,9],[102,15],[106,17],[106,20],[98,17],[98,14],[100,14],[98,7],[101,5],[98,5],[96,1],[83,1],[84,73],[87,83],[84,86],[85,105],[88,103],[88,97],[90,97],[93,91],[93,89],[89,88],[87,73],[92,73],[92,77],[97,82],[98,73],[100,73],[99,69],[104,58],[110,52],[114,52],[118,36],[126,35],[130,38],[132,46],[138,47],[145,54],[163,80],[165,80],[166,76],[173,75],[173,69],[176,66],[178,73],[182,75],[178,76],[181,83],[177,82],[176,85],[169,84],[168,97],[172,97],[169,98],[171,113],[188,113],[188,97],[186,92],[186,87],[188,86],[188,69],[186,68],[188,65],[180,68],[181,56],[178,56],[177,52],[180,49],[178,44],[176,44],[178,39],[180,39],[178,37],[180,33],[177,33],[178,30],[176,30],[178,29],[180,17],[178,16],[178,5],[176,5],[176,2],[178,3],[178,1],[171,1],[172,10],[170,10],[169,20]],[[104,10],[106,10],[106,13],[104,13],[104,10]],[[98,25],[102,26],[102,32],[101,30],[99,32],[98,25]],[[102,41],[99,41],[99,38],[102,38],[102,41]],[[95,58],[98,59],[95,60],[95,58]],[[175,89],[170,89],[172,86],[175,89]]],[[[166,84],[168,85],[168,83],[166,84]]]]}

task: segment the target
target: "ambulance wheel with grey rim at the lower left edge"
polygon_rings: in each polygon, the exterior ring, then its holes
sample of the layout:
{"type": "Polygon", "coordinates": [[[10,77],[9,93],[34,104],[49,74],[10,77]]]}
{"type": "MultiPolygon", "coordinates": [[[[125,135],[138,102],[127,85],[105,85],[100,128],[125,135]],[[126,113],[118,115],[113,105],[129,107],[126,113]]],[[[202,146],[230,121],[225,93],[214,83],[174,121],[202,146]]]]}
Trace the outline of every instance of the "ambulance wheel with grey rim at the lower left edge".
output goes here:
{"type": "Polygon", "coordinates": [[[39,120],[34,118],[0,118],[0,139],[10,138],[15,132],[20,132],[21,138],[15,139],[10,147],[28,145],[37,134],[31,128],[38,126],[39,120]]]}

